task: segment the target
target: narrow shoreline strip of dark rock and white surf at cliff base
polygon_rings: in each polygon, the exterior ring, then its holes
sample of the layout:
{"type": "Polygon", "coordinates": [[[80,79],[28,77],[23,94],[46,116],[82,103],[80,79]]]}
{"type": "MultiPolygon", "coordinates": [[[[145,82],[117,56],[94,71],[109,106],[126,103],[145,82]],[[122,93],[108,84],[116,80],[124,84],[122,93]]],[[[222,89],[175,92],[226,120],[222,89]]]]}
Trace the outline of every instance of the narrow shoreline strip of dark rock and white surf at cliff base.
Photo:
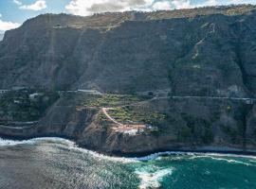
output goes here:
{"type": "Polygon", "coordinates": [[[96,152],[101,155],[109,156],[109,157],[117,157],[117,158],[132,158],[132,159],[148,159],[149,157],[154,156],[164,156],[164,155],[171,155],[171,154],[179,154],[179,153],[201,153],[201,154],[208,154],[208,153],[216,153],[222,155],[239,155],[239,156],[255,156],[256,157],[256,149],[247,149],[243,150],[240,148],[229,147],[229,146],[203,146],[203,147],[180,147],[180,148],[159,148],[157,150],[152,151],[141,151],[141,152],[129,152],[123,153],[120,151],[102,151],[100,149],[96,149],[90,146],[82,146],[78,144],[74,139],[68,138],[66,136],[60,136],[55,134],[48,134],[48,135],[37,135],[33,137],[15,137],[15,136],[5,136],[0,135],[1,139],[4,140],[12,140],[16,142],[26,141],[26,140],[33,140],[33,139],[40,139],[40,138],[60,138],[64,140],[68,140],[74,143],[76,146],[96,152]]]}

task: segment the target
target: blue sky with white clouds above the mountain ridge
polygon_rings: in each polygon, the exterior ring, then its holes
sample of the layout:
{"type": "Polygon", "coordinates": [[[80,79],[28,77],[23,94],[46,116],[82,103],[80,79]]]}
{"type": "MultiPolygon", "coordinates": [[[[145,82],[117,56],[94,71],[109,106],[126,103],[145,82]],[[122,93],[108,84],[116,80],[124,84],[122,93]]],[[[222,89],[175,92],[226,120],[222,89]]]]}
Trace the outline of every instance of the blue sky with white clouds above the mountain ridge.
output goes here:
{"type": "Polygon", "coordinates": [[[230,4],[256,5],[256,0],[0,0],[0,33],[44,13],[87,16],[106,11],[190,9],[230,4]]]}

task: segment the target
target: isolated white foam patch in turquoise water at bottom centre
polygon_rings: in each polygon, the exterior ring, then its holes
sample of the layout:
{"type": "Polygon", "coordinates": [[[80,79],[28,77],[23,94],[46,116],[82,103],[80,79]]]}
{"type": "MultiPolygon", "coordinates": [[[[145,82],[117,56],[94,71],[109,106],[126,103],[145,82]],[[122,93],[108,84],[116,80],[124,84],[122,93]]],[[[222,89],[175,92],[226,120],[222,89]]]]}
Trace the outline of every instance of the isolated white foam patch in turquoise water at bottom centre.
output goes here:
{"type": "Polygon", "coordinates": [[[173,167],[160,168],[154,165],[137,168],[135,173],[140,179],[139,189],[159,188],[164,177],[172,175],[173,167]]]}

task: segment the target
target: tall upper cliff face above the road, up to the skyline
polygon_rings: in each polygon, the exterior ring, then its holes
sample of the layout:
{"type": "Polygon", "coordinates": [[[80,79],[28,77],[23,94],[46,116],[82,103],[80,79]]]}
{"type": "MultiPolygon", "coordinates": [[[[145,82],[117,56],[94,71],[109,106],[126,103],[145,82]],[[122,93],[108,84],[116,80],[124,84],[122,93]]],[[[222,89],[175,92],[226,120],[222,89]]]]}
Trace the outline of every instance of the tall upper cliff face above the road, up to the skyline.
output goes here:
{"type": "Polygon", "coordinates": [[[254,9],[42,15],[0,43],[0,86],[253,95],[254,9]]]}

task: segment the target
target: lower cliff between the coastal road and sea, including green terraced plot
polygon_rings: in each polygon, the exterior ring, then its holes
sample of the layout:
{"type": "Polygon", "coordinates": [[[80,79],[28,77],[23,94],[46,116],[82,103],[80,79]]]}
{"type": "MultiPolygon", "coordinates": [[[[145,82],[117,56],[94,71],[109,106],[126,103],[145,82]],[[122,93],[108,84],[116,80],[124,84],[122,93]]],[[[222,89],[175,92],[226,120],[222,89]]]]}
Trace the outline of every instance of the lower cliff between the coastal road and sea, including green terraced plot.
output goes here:
{"type": "Polygon", "coordinates": [[[37,121],[1,124],[0,135],[60,136],[86,148],[126,155],[160,150],[255,152],[255,110],[255,105],[241,98],[63,92],[37,121]],[[111,107],[108,115],[102,107],[111,107]]]}

